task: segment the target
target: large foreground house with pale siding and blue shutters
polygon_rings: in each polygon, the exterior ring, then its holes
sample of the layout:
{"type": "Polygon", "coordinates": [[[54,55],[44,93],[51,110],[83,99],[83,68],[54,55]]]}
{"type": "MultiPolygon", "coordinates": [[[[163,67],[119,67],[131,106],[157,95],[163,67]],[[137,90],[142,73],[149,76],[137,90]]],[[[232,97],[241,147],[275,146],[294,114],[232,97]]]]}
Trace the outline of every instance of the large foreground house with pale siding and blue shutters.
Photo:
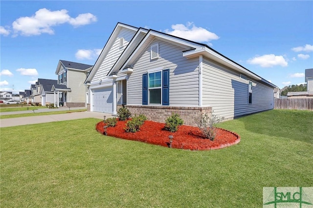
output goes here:
{"type": "Polygon", "coordinates": [[[172,112],[186,125],[202,113],[233,119],[273,109],[272,83],[206,44],[117,23],[85,84],[88,109],[164,122],[172,112]]]}

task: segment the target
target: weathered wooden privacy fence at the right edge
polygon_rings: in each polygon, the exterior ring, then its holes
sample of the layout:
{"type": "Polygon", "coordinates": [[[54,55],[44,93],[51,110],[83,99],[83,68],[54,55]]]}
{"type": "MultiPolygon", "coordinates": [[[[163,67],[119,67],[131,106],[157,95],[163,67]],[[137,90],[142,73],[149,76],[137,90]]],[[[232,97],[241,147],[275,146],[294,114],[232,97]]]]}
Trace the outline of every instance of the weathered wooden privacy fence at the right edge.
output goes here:
{"type": "Polygon", "coordinates": [[[274,109],[313,110],[313,98],[275,98],[274,109]]]}

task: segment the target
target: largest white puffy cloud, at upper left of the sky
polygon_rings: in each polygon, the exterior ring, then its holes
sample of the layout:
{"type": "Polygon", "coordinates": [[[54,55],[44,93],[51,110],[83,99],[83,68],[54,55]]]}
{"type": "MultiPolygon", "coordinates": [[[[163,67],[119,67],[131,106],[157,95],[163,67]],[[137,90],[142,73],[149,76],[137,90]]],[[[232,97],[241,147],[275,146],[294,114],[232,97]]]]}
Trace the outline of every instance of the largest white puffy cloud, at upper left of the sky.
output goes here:
{"type": "Polygon", "coordinates": [[[76,18],[71,18],[66,9],[50,11],[46,8],[39,9],[31,17],[21,17],[12,23],[15,35],[24,36],[40,35],[42,33],[54,34],[53,26],[69,23],[75,27],[97,21],[96,16],[86,13],[76,18]]]}

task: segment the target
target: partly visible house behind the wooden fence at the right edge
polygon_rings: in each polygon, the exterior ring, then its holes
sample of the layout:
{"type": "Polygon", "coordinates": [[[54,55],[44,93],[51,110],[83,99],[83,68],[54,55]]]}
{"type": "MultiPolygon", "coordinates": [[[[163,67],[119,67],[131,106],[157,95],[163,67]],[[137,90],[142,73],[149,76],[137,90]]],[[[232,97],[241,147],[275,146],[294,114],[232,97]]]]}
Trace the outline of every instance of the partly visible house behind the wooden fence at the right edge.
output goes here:
{"type": "Polygon", "coordinates": [[[307,91],[288,92],[288,98],[313,98],[313,68],[305,70],[305,82],[307,83],[307,91]]]}

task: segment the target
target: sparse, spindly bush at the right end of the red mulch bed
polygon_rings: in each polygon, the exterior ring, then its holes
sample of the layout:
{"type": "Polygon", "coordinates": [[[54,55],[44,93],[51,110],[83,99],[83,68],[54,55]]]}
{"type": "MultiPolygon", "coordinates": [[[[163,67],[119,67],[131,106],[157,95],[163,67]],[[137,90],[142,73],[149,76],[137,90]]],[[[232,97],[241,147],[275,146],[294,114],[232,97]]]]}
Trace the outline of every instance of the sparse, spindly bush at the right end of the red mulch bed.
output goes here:
{"type": "Polygon", "coordinates": [[[217,128],[214,126],[224,120],[224,117],[214,115],[209,116],[207,113],[202,114],[198,121],[198,127],[205,139],[214,141],[217,136],[217,128]]]}

